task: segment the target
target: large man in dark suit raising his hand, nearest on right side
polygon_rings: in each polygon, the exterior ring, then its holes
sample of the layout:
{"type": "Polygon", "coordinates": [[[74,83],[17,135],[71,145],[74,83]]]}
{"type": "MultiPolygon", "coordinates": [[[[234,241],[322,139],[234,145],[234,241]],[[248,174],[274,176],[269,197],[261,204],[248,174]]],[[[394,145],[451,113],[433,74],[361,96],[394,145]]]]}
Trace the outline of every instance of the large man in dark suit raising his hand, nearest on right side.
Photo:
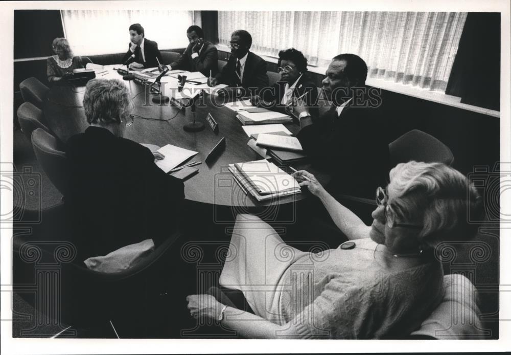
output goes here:
{"type": "Polygon", "coordinates": [[[333,58],[322,81],[332,107],[313,121],[305,105],[296,105],[302,147],[314,164],[329,170],[327,187],[334,195],[373,198],[378,186],[386,186],[389,150],[381,97],[365,85],[367,65],[357,55],[333,58]]]}

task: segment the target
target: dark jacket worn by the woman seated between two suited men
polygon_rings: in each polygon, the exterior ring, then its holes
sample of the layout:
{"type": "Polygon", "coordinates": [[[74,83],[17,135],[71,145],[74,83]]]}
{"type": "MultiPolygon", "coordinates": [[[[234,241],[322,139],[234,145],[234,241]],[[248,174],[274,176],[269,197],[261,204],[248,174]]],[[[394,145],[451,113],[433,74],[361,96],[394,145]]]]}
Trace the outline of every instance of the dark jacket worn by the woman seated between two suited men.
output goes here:
{"type": "MultiPolygon", "coordinates": [[[[264,87],[260,92],[260,96],[266,102],[272,104],[272,107],[278,111],[285,111],[285,105],[281,104],[282,98],[286,93],[286,82],[285,81],[277,81],[271,87],[264,87]]],[[[312,82],[312,80],[304,73],[301,78],[296,83],[293,90],[293,97],[299,98],[304,95],[303,99],[305,100],[307,106],[309,107],[309,113],[313,118],[318,116],[318,108],[317,108],[317,98],[318,91],[316,84],[312,82]]]]}

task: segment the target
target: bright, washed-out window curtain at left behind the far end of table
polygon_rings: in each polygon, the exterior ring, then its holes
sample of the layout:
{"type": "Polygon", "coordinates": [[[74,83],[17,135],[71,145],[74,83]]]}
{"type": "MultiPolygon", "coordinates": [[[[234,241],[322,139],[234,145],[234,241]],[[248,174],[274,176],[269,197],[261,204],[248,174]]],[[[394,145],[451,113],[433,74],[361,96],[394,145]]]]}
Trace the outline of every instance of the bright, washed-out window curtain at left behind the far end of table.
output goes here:
{"type": "Polygon", "coordinates": [[[147,38],[158,42],[160,50],[184,48],[187,28],[194,24],[193,11],[61,10],[61,14],[75,55],[126,52],[128,28],[135,23],[144,27],[147,38]]]}

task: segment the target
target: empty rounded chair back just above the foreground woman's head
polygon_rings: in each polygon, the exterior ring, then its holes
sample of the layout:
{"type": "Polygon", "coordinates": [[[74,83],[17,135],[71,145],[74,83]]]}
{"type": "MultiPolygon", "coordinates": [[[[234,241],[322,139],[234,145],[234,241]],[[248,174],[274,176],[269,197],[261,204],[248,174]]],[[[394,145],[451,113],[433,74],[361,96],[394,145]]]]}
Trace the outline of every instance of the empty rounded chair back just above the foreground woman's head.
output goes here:
{"type": "Polygon", "coordinates": [[[413,129],[406,132],[388,145],[390,165],[406,163],[410,160],[417,162],[439,162],[452,165],[454,156],[444,143],[427,133],[413,129]]]}

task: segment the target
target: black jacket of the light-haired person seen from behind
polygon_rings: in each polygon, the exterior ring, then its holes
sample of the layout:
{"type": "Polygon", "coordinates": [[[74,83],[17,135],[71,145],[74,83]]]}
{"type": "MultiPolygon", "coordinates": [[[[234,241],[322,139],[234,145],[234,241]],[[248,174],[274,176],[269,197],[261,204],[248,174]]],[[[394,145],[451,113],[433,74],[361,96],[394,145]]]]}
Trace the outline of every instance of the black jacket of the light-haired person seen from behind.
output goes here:
{"type": "Polygon", "coordinates": [[[177,228],[183,183],[158,168],[148,148],[90,126],[67,141],[66,157],[77,260],[150,238],[158,246],[177,228]]]}

